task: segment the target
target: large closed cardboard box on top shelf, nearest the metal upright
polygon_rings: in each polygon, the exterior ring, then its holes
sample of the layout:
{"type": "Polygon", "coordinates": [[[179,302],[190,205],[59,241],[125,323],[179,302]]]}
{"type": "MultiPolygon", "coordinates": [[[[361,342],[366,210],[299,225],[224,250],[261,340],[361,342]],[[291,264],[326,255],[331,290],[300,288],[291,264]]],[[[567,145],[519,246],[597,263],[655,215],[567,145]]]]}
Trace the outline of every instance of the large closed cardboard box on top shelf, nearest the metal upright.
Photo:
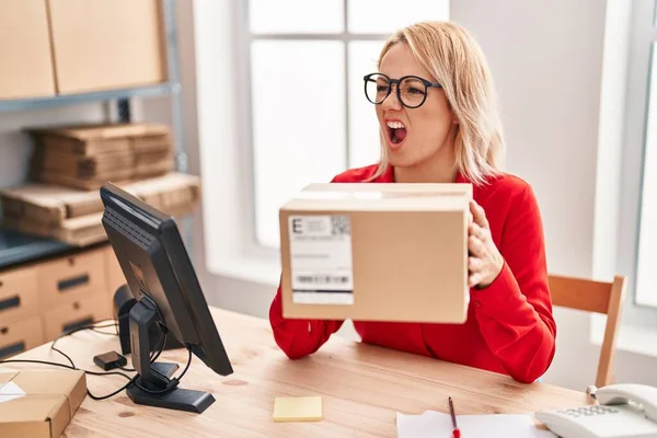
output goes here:
{"type": "Polygon", "coordinates": [[[57,91],[166,81],[160,0],[48,0],[57,91]]]}

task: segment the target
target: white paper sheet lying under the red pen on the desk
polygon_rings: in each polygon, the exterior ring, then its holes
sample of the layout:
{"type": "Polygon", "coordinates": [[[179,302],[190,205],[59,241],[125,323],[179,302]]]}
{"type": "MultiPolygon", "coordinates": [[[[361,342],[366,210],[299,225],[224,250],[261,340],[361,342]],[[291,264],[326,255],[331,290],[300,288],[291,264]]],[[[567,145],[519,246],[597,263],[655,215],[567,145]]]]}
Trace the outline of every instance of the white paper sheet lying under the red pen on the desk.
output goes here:
{"type": "MultiPolygon", "coordinates": [[[[463,438],[556,438],[549,430],[537,428],[526,414],[457,415],[463,438]]],[[[397,438],[451,437],[452,424],[448,414],[426,411],[422,415],[396,415],[397,438]]]]}

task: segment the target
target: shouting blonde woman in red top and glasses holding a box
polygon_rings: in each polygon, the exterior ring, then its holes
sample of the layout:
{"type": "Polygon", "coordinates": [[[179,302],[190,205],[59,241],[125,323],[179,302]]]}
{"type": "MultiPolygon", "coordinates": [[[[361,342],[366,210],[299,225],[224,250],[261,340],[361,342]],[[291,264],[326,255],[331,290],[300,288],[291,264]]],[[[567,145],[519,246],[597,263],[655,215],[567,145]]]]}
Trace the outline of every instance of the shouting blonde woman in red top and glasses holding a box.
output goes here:
{"type": "MultiPolygon", "coordinates": [[[[472,36],[446,22],[393,35],[365,78],[381,159],[334,183],[472,183],[471,306],[464,324],[359,322],[362,342],[506,373],[521,382],[552,362],[556,326],[542,220],[531,187],[497,170],[503,148],[491,73],[472,36]]],[[[286,320],[280,288],[269,320],[292,359],[316,351],[342,321],[286,320]]]]}

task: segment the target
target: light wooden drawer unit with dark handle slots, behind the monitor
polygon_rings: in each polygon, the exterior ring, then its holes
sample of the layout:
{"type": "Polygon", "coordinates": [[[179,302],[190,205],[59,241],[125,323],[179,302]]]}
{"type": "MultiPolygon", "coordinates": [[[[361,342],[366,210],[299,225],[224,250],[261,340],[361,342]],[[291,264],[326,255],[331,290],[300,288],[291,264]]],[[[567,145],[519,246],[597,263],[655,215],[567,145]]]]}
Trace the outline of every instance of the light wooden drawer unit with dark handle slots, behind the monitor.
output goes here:
{"type": "Polygon", "coordinates": [[[107,244],[0,270],[0,359],[111,319],[114,291],[123,284],[107,244]]]}

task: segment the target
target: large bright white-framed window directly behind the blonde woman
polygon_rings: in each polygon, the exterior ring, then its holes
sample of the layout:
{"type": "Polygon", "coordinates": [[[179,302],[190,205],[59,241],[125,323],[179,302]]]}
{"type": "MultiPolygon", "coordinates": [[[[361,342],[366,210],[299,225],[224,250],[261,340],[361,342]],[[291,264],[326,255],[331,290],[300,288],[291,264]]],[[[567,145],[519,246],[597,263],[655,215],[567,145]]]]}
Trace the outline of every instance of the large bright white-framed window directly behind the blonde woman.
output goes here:
{"type": "Polygon", "coordinates": [[[251,153],[252,242],[278,249],[278,209],[313,182],[374,163],[379,128],[362,95],[384,39],[447,20],[448,0],[250,0],[241,142],[251,153]]]}

